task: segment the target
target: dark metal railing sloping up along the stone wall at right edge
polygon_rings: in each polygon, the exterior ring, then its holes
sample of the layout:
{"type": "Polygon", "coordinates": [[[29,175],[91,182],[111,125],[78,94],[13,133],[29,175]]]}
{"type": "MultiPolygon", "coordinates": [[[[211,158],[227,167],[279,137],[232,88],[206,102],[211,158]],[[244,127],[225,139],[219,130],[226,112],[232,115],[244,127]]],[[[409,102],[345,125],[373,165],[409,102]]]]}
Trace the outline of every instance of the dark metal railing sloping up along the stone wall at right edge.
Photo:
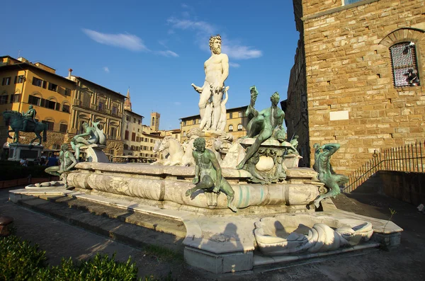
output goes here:
{"type": "Polygon", "coordinates": [[[358,188],[368,178],[378,171],[402,171],[424,173],[425,171],[425,142],[405,144],[401,147],[392,147],[379,153],[373,153],[373,159],[365,162],[356,171],[353,171],[344,192],[351,192],[358,188]]]}

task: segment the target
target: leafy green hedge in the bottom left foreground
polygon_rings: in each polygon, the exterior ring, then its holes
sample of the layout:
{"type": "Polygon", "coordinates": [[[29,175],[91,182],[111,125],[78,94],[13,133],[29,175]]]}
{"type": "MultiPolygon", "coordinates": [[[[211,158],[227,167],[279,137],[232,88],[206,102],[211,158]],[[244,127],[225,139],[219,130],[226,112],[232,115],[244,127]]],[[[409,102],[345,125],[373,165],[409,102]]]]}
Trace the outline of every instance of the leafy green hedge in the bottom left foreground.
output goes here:
{"type": "MultiPolygon", "coordinates": [[[[62,258],[58,266],[47,265],[45,251],[38,245],[30,245],[16,236],[0,238],[0,280],[15,281],[155,281],[153,275],[137,278],[137,267],[128,258],[127,262],[115,261],[108,255],[96,254],[90,260],[74,262],[72,258],[62,258]]],[[[162,280],[173,280],[168,275],[162,280]]]]}

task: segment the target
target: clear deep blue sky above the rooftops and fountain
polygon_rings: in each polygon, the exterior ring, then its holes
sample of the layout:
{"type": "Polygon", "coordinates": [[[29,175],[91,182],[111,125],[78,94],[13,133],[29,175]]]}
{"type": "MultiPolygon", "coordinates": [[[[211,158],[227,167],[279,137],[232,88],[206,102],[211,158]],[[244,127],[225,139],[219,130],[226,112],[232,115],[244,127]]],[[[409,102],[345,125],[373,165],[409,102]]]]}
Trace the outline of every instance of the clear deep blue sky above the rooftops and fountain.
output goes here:
{"type": "Polygon", "coordinates": [[[6,1],[2,4],[0,55],[22,57],[126,94],[133,111],[160,129],[179,128],[179,118],[199,113],[203,63],[210,35],[222,36],[229,56],[227,108],[256,108],[270,96],[286,98],[299,33],[290,0],[202,1],[6,1]]]}

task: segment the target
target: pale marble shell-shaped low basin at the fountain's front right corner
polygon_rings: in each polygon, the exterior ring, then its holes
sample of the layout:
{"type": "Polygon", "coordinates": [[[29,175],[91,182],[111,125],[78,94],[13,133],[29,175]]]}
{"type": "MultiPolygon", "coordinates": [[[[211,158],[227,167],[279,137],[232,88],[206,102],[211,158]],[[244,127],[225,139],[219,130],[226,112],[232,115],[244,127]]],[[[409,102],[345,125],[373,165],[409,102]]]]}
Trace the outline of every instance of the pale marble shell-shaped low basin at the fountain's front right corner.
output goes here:
{"type": "Polygon", "coordinates": [[[369,241],[373,229],[361,219],[335,219],[310,214],[283,214],[256,222],[254,235],[266,255],[334,251],[369,241]]]}

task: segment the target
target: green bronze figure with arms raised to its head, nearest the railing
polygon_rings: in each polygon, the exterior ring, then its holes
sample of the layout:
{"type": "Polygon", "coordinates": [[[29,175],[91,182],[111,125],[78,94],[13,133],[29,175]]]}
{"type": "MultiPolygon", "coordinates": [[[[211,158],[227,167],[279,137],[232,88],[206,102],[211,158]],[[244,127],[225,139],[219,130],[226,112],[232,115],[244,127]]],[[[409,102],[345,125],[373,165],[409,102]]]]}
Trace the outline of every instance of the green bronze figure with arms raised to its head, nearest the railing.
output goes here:
{"type": "Polygon", "coordinates": [[[335,197],[341,193],[339,185],[344,185],[348,182],[348,177],[332,173],[331,170],[331,156],[340,147],[339,144],[324,144],[320,147],[319,144],[314,144],[314,171],[319,173],[319,180],[324,183],[324,186],[329,189],[325,194],[317,197],[313,202],[317,208],[320,205],[320,201],[327,197],[335,197]]]}

